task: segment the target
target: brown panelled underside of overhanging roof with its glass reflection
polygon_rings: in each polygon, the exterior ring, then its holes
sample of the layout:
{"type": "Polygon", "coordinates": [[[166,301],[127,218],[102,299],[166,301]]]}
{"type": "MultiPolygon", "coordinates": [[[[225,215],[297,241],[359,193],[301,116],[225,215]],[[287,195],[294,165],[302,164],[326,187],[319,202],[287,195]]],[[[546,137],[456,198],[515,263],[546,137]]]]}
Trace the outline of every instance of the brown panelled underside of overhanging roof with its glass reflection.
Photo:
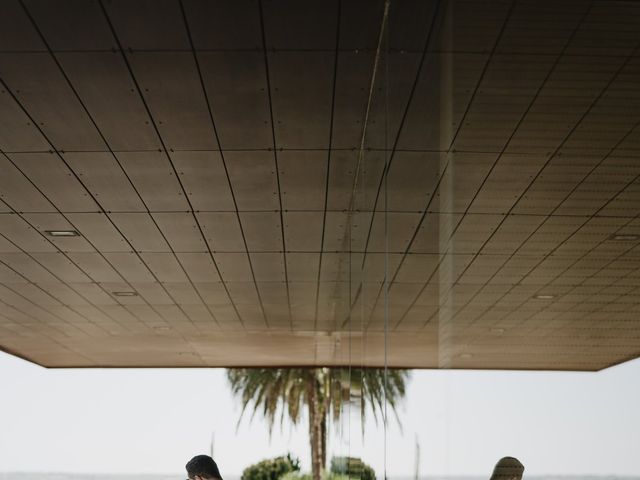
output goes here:
{"type": "Polygon", "coordinates": [[[640,4],[392,0],[380,51],[381,1],[0,10],[1,348],[49,367],[640,354],[640,4]]]}

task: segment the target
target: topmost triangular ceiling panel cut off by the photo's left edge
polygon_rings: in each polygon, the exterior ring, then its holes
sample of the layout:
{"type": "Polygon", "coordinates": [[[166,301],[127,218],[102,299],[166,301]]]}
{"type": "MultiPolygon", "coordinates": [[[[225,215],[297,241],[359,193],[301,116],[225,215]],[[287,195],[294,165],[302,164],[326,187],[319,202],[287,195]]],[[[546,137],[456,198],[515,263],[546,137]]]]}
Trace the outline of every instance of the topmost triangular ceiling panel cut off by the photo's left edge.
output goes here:
{"type": "Polygon", "coordinates": [[[0,122],[0,149],[4,152],[46,151],[51,148],[4,85],[0,87],[0,122]]]}

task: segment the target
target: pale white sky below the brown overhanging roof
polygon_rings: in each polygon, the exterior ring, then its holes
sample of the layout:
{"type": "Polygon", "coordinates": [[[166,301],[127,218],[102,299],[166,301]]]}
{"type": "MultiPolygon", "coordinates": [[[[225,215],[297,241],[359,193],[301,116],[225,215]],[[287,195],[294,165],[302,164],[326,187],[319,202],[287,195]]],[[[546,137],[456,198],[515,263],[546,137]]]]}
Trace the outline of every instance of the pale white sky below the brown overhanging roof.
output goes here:
{"type": "MultiPolygon", "coordinates": [[[[525,475],[640,476],[640,360],[597,373],[414,371],[388,428],[371,415],[331,429],[329,448],[382,477],[489,476],[518,457],[525,475]],[[385,442],[386,438],[386,442],[385,442]],[[385,455],[386,443],[386,455],[385,455]]],[[[222,369],[47,370],[0,352],[0,472],[183,475],[195,454],[223,476],[287,452],[309,468],[305,422],[269,436],[239,409],[222,369]]]]}

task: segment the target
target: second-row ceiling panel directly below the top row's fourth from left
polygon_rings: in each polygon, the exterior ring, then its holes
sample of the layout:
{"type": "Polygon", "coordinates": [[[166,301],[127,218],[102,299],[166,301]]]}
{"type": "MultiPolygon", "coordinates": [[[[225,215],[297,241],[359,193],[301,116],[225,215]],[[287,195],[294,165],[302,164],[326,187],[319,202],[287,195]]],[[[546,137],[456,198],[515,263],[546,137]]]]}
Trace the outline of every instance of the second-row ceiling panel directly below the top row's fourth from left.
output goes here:
{"type": "Polygon", "coordinates": [[[198,52],[198,63],[222,148],[272,148],[264,54],[198,52]]]}

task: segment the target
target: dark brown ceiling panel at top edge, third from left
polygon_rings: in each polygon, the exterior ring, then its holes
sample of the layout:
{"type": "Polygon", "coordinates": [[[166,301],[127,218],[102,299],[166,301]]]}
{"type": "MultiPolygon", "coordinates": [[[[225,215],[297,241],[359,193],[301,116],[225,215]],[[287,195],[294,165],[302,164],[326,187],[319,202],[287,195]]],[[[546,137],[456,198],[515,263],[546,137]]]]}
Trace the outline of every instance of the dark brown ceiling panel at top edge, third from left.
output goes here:
{"type": "Polygon", "coordinates": [[[180,4],[173,0],[109,2],[107,14],[122,46],[132,50],[185,50],[189,39],[180,4]],[[149,18],[149,12],[153,12],[149,18]],[[144,19],[144,21],[141,21],[144,19]]]}

